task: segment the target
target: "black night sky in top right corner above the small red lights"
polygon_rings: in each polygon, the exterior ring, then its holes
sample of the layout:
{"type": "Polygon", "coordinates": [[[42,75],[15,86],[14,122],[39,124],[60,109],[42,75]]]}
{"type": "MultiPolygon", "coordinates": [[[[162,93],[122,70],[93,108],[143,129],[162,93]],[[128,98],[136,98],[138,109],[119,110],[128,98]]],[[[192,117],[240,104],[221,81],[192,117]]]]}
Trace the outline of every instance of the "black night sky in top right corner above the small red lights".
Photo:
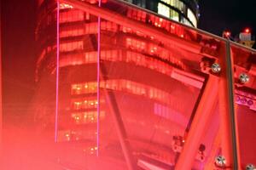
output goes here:
{"type": "Polygon", "coordinates": [[[255,0],[200,0],[200,28],[221,35],[228,29],[236,36],[245,27],[256,31],[255,0]]]}

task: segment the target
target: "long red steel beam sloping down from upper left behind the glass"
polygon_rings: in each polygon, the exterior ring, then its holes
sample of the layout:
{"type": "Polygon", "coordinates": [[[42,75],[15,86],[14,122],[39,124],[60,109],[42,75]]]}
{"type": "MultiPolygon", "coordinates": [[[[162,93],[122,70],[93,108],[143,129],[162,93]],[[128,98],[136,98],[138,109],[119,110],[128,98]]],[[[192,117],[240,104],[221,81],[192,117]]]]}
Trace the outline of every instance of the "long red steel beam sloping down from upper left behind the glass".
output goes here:
{"type": "Polygon", "coordinates": [[[141,31],[144,34],[148,36],[153,36],[162,42],[172,42],[178,48],[183,48],[186,51],[190,51],[195,54],[201,53],[201,46],[195,42],[189,42],[188,40],[184,40],[181,37],[177,37],[172,34],[166,34],[166,32],[160,31],[154,26],[148,26],[141,21],[132,20],[128,17],[124,17],[123,15],[114,12],[113,10],[109,10],[108,8],[99,8],[96,5],[92,5],[90,3],[83,3],[78,0],[61,0],[61,2],[68,3],[74,8],[79,8],[85,12],[101,17],[104,20],[109,20],[116,24],[119,24],[120,26],[126,26],[136,31],[141,31]]]}

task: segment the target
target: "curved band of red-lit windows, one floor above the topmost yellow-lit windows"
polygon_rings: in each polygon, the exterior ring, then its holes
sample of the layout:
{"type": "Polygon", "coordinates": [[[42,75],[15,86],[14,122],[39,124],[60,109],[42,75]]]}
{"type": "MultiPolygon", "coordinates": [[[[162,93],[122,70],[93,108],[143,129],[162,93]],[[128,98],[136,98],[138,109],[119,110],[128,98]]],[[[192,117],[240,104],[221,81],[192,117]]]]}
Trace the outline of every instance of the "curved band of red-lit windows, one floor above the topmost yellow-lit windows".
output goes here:
{"type": "MultiPolygon", "coordinates": [[[[159,59],[154,59],[151,57],[147,57],[143,54],[138,54],[131,51],[122,51],[122,50],[102,50],[101,59],[103,61],[121,61],[126,63],[131,63],[134,65],[139,65],[146,67],[148,69],[158,71],[162,74],[170,76],[172,74],[172,66],[166,64],[159,59]]],[[[172,65],[176,65],[181,69],[185,69],[185,65],[174,57],[170,57],[168,59],[172,65]]],[[[72,54],[65,55],[61,57],[60,67],[64,67],[67,65],[84,65],[90,63],[97,62],[97,52],[89,52],[85,54],[72,54]]],[[[96,90],[96,88],[95,88],[96,90]]]]}

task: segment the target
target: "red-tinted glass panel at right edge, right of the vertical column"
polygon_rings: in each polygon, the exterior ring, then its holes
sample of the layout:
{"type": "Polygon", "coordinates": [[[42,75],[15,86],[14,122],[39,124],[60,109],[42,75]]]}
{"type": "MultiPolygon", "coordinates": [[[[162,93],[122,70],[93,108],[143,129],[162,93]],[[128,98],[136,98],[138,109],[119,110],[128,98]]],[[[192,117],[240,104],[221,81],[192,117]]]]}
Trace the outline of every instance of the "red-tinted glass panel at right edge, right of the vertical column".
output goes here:
{"type": "Polygon", "coordinates": [[[231,44],[235,65],[235,103],[240,146],[241,168],[256,165],[256,121],[255,101],[255,66],[256,51],[241,45],[231,44]]]}

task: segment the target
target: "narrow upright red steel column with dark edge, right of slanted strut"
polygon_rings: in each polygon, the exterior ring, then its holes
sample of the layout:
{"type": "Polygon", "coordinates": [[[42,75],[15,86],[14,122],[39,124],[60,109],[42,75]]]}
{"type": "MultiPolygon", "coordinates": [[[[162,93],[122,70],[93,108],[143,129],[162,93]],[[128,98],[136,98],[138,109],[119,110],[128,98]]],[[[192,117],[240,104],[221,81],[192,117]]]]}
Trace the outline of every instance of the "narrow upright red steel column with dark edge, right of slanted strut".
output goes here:
{"type": "Polygon", "coordinates": [[[219,90],[220,129],[222,155],[227,160],[227,167],[239,169],[239,147],[236,128],[236,113],[234,105],[234,64],[230,54],[230,41],[227,40],[224,57],[219,59],[223,69],[221,72],[219,90]]]}

